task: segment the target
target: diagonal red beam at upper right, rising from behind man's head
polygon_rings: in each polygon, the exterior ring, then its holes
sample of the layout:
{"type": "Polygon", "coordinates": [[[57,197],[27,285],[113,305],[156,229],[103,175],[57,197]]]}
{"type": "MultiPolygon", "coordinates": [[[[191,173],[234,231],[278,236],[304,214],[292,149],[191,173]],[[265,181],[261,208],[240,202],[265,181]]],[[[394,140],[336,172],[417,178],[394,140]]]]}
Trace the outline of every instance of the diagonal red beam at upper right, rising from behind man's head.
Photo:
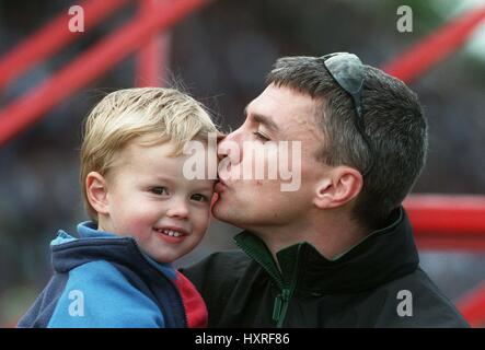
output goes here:
{"type": "Polygon", "coordinates": [[[405,82],[411,82],[458,50],[484,20],[485,7],[471,10],[399,55],[399,58],[385,65],[383,70],[405,82]]]}

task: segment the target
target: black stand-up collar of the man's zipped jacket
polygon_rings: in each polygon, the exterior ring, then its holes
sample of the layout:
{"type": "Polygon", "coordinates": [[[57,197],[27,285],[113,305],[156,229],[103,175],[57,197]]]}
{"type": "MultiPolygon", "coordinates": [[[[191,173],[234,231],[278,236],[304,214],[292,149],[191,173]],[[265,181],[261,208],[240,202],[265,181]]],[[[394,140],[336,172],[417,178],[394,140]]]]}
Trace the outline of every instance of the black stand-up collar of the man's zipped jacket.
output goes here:
{"type": "Polygon", "coordinates": [[[244,231],[235,243],[282,289],[302,294],[356,293],[373,289],[414,271],[419,262],[413,231],[401,207],[390,224],[372,232],[362,242],[334,260],[322,256],[303,242],[276,254],[280,270],[269,249],[256,235],[244,231]]]}

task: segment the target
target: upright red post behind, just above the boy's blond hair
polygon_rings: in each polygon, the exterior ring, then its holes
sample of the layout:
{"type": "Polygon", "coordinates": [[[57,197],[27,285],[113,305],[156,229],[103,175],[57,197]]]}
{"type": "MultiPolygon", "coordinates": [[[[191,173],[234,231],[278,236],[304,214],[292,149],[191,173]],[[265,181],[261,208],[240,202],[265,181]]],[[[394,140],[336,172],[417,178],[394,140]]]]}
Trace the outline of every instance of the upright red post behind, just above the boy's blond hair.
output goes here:
{"type": "MultiPolygon", "coordinates": [[[[139,13],[157,11],[161,4],[168,4],[171,0],[139,0],[139,13]]],[[[170,48],[170,34],[153,35],[150,40],[138,50],[135,71],[135,85],[162,86],[164,84],[164,71],[168,65],[170,48]]]]}

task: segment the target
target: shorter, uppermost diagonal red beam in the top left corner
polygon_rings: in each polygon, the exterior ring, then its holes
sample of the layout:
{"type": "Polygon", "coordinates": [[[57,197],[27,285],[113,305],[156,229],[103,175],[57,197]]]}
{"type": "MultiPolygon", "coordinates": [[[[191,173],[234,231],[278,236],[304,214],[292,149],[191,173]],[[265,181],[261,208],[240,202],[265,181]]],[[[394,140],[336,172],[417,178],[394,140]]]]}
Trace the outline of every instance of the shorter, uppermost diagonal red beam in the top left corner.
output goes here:
{"type": "MultiPolygon", "coordinates": [[[[84,31],[95,26],[126,2],[127,0],[86,0],[81,2],[80,5],[84,10],[84,31]]],[[[68,11],[63,11],[62,14],[49,21],[46,26],[0,58],[0,90],[28,68],[56,54],[83,34],[69,31],[70,19],[68,11]]]]}

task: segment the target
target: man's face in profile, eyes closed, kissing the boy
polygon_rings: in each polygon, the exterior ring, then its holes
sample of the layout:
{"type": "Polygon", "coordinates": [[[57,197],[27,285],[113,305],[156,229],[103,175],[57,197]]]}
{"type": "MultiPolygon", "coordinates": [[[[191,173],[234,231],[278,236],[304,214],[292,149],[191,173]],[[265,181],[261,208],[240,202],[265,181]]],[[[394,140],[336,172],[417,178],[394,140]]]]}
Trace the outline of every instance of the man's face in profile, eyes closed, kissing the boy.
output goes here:
{"type": "MultiPolygon", "coordinates": [[[[212,207],[213,215],[222,221],[247,230],[268,226],[296,225],[305,220],[312,208],[315,184],[323,171],[323,164],[315,159],[322,143],[321,132],[314,121],[316,102],[309,95],[300,94],[288,88],[269,85],[246,107],[246,119],[235,131],[227,136],[218,145],[218,153],[224,156],[219,168],[221,183],[216,186],[218,201],[212,207]],[[288,183],[278,176],[276,179],[242,179],[242,167],[250,152],[243,143],[275,143],[280,141],[301,142],[301,152],[292,154],[289,164],[301,162],[301,185],[298,190],[282,191],[281,185],[288,183]],[[234,151],[238,144],[238,152],[234,151]],[[299,158],[298,160],[296,159],[299,158]]],[[[265,154],[267,167],[278,162],[280,154],[265,154]]]]}

